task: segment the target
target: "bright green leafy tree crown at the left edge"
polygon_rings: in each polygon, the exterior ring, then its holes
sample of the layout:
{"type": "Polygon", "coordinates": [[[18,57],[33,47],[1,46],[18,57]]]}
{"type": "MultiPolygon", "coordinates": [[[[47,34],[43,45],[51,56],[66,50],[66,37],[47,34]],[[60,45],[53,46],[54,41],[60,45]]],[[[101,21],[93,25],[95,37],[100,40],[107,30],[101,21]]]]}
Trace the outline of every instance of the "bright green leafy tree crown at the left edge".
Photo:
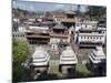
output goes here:
{"type": "Polygon", "coordinates": [[[13,56],[13,64],[21,64],[30,54],[29,46],[27,42],[20,42],[16,39],[13,40],[13,50],[12,50],[12,56],[13,56]]]}

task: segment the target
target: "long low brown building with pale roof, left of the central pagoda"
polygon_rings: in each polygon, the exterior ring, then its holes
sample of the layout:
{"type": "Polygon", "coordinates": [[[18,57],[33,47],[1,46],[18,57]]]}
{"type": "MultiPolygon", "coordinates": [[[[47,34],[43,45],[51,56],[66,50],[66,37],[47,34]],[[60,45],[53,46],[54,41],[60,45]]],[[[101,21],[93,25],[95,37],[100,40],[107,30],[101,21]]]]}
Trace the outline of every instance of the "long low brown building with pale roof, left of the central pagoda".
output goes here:
{"type": "Polygon", "coordinates": [[[30,44],[48,44],[50,41],[48,27],[29,25],[26,34],[30,44]]]}

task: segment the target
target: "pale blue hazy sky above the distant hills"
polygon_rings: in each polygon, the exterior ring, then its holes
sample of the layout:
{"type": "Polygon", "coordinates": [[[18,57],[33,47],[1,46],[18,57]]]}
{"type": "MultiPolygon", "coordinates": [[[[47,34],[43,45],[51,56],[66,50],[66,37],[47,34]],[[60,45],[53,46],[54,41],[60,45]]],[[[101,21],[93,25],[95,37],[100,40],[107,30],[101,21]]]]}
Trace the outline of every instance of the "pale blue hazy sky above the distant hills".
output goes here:
{"type": "MultiPolygon", "coordinates": [[[[12,7],[38,12],[38,11],[56,11],[56,10],[64,10],[64,11],[77,10],[78,4],[13,0],[12,7]]],[[[81,6],[80,10],[84,12],[87,10],[87,7],[88,6],[81,6]]]]}

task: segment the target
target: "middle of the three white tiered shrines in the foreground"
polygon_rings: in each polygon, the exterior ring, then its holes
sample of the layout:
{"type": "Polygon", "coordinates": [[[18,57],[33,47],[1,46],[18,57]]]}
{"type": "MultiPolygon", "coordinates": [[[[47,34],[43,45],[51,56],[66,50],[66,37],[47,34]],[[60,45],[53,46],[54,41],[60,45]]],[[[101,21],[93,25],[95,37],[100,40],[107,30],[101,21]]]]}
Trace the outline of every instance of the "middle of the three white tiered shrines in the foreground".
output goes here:
{"type": "Polygon", "coordinates": [[[78,60],[75,53],[71,46],[67,46],[67,49],[60,55],[59,70],[63,73],[67,73],[71,69],[75,70],[77,63],[78,60]]]}

